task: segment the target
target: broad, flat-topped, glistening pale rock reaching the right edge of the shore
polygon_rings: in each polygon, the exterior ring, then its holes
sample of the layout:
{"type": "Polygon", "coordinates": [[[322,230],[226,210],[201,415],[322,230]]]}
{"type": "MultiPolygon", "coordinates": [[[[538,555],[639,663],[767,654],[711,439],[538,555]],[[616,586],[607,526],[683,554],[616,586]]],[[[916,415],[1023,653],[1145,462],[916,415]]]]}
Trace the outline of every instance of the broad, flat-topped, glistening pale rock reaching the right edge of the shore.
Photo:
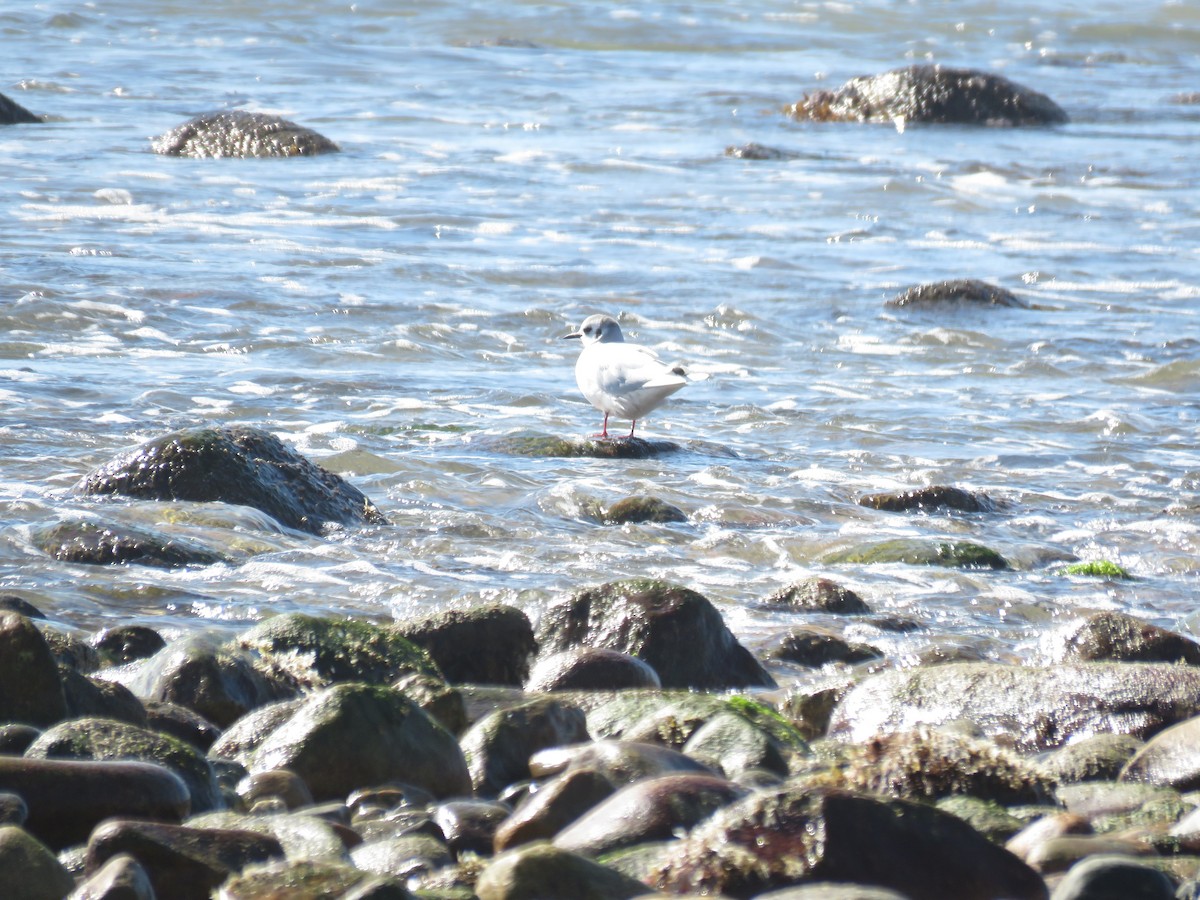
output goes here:
{"type": "Polygon", "coordinates": [[[917,725],[971,722],[1032,752],[1076,734],[1145,738],[1200,713],[1200,670],[1152,662],[952,662],[882,672],[852,688],[829,733],[865,742],[917,725]]]}

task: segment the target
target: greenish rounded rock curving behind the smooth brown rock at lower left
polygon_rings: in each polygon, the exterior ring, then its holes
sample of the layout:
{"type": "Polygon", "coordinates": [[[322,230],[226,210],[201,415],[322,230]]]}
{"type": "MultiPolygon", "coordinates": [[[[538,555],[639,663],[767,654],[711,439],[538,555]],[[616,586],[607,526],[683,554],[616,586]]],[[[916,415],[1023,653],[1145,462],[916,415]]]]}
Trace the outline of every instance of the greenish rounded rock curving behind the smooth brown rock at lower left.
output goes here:
{"type": "Polygon", "coordinates": [[[115,719],[71,719],[42,733],[25,751],[32,760],[133,760],[163,766],[182,779],[192,811],[222,805],[212,766],[190,744],[115,719]]]}

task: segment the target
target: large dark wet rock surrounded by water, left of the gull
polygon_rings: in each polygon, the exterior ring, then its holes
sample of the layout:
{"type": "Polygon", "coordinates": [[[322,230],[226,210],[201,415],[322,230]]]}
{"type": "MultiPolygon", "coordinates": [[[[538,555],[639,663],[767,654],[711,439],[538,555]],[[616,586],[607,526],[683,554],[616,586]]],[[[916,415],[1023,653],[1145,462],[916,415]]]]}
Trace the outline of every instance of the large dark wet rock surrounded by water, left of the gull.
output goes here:
{"type": "Polygon", "coordinates": [[[288,528],[386,520],[356,487],[310,462],[269,432],[240,425],[187,428],[156,438],[91,472],[76,490],[148,500],[232,503],[288,528]]]}

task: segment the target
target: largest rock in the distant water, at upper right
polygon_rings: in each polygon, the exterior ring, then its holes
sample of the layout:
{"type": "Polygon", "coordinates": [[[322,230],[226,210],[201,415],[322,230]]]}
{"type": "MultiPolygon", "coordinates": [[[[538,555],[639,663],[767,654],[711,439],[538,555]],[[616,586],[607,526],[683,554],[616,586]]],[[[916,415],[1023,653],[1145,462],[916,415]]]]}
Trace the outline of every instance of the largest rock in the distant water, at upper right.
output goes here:
{"type": "Polygon", "coordinates": [[[959,125],[1060,125],[1062,108],[1044,94],[997,74],[916,65],[851,78],[787,108],[793,119],[959,125]]]}

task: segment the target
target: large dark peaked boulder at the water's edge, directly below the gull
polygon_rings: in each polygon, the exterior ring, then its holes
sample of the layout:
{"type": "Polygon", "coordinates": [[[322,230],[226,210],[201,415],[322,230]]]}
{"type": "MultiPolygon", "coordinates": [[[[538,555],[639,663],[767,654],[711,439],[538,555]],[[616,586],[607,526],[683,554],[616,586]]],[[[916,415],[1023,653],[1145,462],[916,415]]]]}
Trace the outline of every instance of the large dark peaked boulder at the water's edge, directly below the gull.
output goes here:
{"type": "Polygon", "coordinates": [[[654,668],[665,688],[775,686],[707,598],[664,581],[618,581],[576,592],[546,610],[538,644],[542,653],[576,646],[628,653],[654,668]]]}

